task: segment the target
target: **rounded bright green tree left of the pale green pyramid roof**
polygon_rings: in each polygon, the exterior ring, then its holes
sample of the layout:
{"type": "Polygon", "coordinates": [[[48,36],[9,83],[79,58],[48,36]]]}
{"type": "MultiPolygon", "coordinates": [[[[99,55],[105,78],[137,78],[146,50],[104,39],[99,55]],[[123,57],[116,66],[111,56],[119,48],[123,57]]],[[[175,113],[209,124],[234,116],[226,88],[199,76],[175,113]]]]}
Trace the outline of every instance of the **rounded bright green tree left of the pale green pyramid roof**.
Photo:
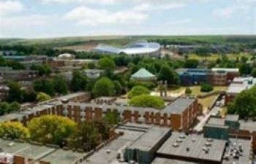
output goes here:
{"type": "Polygon", "coordinates": [[[114,95],[115,87],[113,85],[113,82],[108,79],[108,77],[102,77],[94,84],[94,88],[92,90],[92,93],[94,93],[94,96],[111,96],[114,95]]]}

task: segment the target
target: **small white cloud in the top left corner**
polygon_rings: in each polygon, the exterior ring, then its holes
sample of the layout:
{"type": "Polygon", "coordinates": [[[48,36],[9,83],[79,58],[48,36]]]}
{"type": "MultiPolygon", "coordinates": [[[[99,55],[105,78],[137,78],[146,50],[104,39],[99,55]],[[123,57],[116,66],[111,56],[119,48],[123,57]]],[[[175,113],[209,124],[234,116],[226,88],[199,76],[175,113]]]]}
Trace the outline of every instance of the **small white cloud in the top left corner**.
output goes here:
{"type": "Polygon", "coordinates": [[[23,4],[20,1],[0,1],[0,15],[7,15],[22,10],[23,4]]]}

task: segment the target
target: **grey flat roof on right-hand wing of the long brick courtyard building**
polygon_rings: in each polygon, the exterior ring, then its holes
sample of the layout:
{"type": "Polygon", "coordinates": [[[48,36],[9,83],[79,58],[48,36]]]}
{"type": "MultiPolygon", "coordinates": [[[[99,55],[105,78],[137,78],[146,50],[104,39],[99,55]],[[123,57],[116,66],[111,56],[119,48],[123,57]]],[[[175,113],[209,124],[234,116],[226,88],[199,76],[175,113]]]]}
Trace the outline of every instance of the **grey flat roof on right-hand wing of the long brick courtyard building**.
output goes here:
{"type": "Polygon", "coordinates": [[[184,109],[187,109],[194,101],[195,98],[178,98],[176,101],[166,106],[165,109],[162,109],[162,112],[181,114],[184,112],[184,109]]]}

